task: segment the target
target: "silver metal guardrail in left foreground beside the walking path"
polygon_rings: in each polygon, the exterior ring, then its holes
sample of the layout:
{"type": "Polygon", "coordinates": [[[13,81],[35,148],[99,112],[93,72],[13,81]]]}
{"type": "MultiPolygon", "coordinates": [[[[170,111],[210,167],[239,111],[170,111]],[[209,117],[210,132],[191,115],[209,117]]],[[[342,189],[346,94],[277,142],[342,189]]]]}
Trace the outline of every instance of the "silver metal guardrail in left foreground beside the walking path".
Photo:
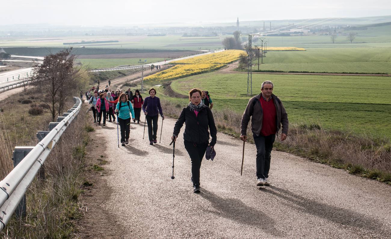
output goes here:
{"type": "Polygon", "coordinates": [[[11,216],[18,207],[24,206],[25,208],[24,195],[27,188],[45,162],[49,153],[59,141],[61,135],[79,113],[82,102],[78,97],[74,97],[74,101],[75,105],[65,113],[65,117],[59,117],[57,118],[57,122],[49,123],[50,131],[38,131],[37,137],[41,137],[42,140],[39,141],[36,146],[15,147],[13,158],[14,164],[16,162],[17,153],[19,157],[22,155],[22,160],[0,182],[0,232],[5,228],[5,225],[7,225],[9,219],[11,219],[11,216]],[[27,153],[27,155],[24,156],[23,154],[25,153],[27,153]],[[20,204],[22,200],[24,205],[20,204]]]}

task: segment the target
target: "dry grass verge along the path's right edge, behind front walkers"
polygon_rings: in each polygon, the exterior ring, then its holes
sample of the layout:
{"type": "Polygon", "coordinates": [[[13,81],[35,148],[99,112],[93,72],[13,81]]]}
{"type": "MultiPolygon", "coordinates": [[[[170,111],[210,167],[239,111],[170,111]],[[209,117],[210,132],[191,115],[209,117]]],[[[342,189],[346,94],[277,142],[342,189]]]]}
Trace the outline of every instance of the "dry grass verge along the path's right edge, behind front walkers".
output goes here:
{"type": "MultiPolygon", "coordinates": [[[[162,100],[165,114],[178,118],[183,105],[162,100]]],[[[214,111],[217,130],[233,137],[240,136],[242,115],[230,109],[214,111]]],[[[250,126],[249,126],[250,127],[250,126]]],[[[251,130],[248,141],[253,143],[251,130]]],[[[274,143],[277,150],[307,157],[335,168],[391,184],[391,144],[370,134],[328,131],[317,123],[289,126],[287,140],[274,143]]]]}

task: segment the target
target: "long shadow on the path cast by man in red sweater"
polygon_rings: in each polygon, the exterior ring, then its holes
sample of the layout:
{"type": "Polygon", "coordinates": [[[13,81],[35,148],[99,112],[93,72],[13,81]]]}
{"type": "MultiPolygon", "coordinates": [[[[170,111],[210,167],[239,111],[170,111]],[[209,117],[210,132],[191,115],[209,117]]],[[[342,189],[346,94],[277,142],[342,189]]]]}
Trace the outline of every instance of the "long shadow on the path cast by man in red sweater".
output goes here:
{"type": "Polygon", "coordinates": [[[286,200],[285,204],[292,209],[324,218],[340,225],[359,227],[375,232],[381,231],[385,235],[391,235],[390,228],[387,230],[386,225],[375,218],[370,218],[358,212],[317,202],[275,186],[260,188],[260,190],[262,193],[273,194],[286,200]]]}

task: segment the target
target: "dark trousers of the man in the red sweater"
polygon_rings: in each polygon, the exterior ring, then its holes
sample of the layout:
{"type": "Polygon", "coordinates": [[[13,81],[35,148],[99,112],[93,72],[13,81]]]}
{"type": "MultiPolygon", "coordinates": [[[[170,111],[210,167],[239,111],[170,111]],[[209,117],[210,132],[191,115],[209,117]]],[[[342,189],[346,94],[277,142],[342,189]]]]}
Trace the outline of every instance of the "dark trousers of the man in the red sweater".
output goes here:
{"type": "Polygon", "coordinates": [[[256,146],[256,177],[265,179],[269,177],[270,154],[276,135],[256,136],[253,134],[253,137],[256,146]]]}

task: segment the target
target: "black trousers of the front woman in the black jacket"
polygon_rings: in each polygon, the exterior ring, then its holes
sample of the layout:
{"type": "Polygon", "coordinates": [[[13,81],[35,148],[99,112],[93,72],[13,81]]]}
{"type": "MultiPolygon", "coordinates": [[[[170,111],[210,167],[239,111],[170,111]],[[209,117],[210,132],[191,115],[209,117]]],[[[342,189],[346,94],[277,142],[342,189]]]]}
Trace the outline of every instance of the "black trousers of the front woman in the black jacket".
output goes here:
{"type": "Polygon", "coordinates": [[[201,161],[204,157],[206,147],[208,143],[193,144],[192,142],[185,141],[185,149],[192,160],[192,179],[193,184],[199,185],[199,169],[201,168],[201,161]]]}

